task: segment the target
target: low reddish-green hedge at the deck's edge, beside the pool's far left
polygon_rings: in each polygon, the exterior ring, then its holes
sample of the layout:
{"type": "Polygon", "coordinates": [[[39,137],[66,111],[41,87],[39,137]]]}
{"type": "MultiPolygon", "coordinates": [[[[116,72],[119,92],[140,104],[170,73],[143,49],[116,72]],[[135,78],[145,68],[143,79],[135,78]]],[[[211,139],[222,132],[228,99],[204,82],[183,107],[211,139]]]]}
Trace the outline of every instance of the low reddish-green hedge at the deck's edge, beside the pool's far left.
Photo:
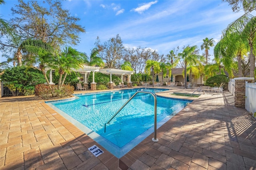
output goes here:
{"type": "Polygon", "coordinates": [[[35,95],[43,99],[67,97],[74,93],[74,87],[71,85],[62,85],[58,89],[58,85],[39,84],[35,87],[35,95]]]}

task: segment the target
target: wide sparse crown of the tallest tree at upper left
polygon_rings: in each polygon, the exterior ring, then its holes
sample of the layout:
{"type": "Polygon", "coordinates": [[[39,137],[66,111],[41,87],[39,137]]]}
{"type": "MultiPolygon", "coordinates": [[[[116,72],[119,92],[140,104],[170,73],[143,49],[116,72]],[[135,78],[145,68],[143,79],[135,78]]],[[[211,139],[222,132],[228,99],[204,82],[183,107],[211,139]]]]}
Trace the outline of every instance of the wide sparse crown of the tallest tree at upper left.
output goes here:
{"type": "MultiPolygon", "coordinates": [[[[80,19],[70,15],[68,10],[62,9],[61,1],[45,0],[42,6],[39,1],[18,0],[19,4],[12,8],[12,14],[17,15],[11,19],[21,42],[32,38],[50,43],[55,49],[64,44],[76,45],[78,35],[85,32],[84,28],[76,22],[80,19]]],[[[3,47],[10,47],[8,43],[3,47]]]]}

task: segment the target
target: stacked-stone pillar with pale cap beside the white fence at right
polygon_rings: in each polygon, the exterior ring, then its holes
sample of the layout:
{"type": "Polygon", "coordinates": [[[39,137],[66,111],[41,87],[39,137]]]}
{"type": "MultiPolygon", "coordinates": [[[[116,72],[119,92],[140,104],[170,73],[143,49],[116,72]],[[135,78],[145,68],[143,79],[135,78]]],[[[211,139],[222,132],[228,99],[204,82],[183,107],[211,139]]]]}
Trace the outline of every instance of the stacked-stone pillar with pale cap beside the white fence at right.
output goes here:
{"type": "Polygon", "coordinates": [[[245,108],[245,82],[252,83],[253,77],[238,77],[235,80],[235,107],[245,108]]]}

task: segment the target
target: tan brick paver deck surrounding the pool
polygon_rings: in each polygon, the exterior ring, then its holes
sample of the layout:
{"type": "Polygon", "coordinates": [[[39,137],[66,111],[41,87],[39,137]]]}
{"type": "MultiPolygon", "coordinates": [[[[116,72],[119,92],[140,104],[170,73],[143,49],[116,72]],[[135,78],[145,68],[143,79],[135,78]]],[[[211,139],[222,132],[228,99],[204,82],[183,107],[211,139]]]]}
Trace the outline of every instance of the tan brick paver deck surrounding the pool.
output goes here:
{"type": "Polygon", "coordinates": [[[256,121],[229,92],[196,99],[152,137],[118,159],[43,100],[0,98],[1,170],[256,170],[256,121]]]}

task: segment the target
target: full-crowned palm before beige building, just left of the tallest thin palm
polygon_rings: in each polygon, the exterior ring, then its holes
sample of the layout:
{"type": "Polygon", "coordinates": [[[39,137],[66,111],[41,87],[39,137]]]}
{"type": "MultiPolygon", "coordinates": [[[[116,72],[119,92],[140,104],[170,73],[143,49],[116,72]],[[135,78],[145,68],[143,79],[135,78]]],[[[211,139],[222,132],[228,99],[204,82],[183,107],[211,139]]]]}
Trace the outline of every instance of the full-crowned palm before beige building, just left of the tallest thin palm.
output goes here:
{"type": "Polygon", "coordinates": [[[185,47],[182,51],[182,53],[178,53],[179,60],[183,60],[184,62],[184,84],[185,88],[187,88],[187,81],[186,81],[186,75],[187,75],[187,66],[192,64],[197,64],[200,59],[202,59],[201,55],[197,54],[197,45],[194,45],[190,47],[189,45],[185,47]]]}

